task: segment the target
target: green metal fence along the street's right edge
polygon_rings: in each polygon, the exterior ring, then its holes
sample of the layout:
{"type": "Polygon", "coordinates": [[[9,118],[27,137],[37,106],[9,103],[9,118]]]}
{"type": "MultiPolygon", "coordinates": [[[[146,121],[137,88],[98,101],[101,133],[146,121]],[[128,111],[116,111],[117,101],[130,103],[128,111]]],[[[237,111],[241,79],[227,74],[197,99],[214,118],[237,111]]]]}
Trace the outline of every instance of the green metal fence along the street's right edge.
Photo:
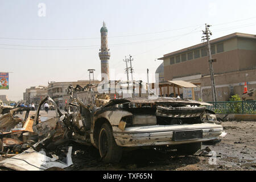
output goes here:
{"type": "Polygon", "coordinates": [[[256,114],[256,101],[209,102],[207,109],[217,114],[256,114]]]}

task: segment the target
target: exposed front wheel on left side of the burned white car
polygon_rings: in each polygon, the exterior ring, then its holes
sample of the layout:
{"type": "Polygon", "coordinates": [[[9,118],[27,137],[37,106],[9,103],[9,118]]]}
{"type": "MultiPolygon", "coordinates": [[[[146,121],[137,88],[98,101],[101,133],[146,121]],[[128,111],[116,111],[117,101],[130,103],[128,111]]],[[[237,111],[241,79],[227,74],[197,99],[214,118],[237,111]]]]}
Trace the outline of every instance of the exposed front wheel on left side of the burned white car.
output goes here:
{"type": "Polygon", "coordinates": [[[103,162],[118,163],[122,157],[122,147],[119,147],[114,140],[112,126],[104,123],[101,126],[98,137],[98,150],[103,162]]]}

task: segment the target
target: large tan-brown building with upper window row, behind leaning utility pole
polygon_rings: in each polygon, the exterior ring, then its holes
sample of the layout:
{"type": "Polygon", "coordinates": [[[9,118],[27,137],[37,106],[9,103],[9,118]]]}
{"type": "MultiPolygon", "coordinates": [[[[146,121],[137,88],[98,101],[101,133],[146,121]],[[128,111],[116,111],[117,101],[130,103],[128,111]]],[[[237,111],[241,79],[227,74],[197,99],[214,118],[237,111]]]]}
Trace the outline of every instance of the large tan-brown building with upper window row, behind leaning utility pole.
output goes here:
{"type": "MultiPolygon", "coordinates": [[[[164,80],[197,84],[196,100],[212,101],[206,45],[201,43],[167,53],[159,60],[163,60],[164,80]]],[[[245,81],[249,89],[256,88],[256,35],[234,33],[210,40],[210,45],[212,57],[217,60],[213,63],[217,101],[241,95],[245,81]]]]}

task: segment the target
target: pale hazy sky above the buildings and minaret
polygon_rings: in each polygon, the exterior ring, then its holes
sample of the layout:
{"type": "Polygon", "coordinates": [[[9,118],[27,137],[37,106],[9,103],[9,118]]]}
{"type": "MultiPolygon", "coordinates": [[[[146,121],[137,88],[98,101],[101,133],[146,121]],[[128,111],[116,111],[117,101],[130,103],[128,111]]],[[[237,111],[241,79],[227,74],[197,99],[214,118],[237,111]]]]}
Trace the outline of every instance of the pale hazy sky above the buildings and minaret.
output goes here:
{"type": "MultiPolygon", "coordinates": [[[[256,34],[256,1],[0,0],[0,72],[9,73],[11,100],[48,81],[100,80],[100,28],[109,36],[110,78],[126,79],[125,56],[134,58],[135,78],[146,81],[164,54],[201,43],[204,24],[211,39],[256,34]],[[43,4],[42,4],[43,3],[43,4]],[[44,10],[46,6],[46,11],[44,10]]],[[[154,75],[150,76],[154,81],[154,75]]]]}

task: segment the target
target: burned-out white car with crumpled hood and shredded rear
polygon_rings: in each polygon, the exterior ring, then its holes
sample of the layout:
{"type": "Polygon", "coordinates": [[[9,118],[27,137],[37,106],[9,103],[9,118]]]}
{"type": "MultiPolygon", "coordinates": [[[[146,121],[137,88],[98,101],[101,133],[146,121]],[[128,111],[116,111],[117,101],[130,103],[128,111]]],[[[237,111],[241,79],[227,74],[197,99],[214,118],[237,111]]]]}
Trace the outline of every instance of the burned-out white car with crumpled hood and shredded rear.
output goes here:
{"type": "Polygon", "coordinates": [[[202,142],[216,140],[223,132],[214,112],[202,106],[205,102],[148,95],[117,98],[99,107],[93,93],[96,86],[69,87],[69,106],[76,109],[60,119],[77,142],[98,148],[104,162],[119,162],[122,151],[138,147],[174,148],[192,155],[202,142]],[[82,90],[90,96],[86,104],[76,96],[82,90]]]}

